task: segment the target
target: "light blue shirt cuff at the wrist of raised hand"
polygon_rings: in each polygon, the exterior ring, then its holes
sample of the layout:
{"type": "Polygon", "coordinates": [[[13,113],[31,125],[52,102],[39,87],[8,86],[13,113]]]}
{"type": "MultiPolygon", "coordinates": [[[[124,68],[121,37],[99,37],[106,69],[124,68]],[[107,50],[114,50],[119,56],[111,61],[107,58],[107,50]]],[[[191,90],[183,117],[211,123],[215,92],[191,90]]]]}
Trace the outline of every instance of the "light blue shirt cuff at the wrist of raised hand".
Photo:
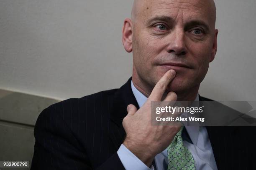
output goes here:
{"type": "Polygon", "coordinates": [[[145,165],[123,144],[120,146],[117,153],[125,170],[154,170],[155,169],[153,165],[151,165],[150,168],[148,168],[147,165],[145,165]]]}

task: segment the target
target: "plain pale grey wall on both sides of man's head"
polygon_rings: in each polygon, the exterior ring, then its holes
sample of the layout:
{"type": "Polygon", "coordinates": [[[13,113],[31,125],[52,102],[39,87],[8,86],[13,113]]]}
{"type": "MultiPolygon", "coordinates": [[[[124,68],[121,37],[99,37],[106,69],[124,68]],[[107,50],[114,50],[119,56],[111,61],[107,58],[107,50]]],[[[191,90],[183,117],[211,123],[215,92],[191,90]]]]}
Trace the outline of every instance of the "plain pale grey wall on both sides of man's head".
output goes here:
{"type": "MultiPolygon", "coordinates": [[[[256,100],[256,1],[218,0],[218,53],[200,88],[256,100]]],[[[0,88],[56,99],[118,88],[131,76],[121,42],[132,0],[0,0],[0,88]]]]}

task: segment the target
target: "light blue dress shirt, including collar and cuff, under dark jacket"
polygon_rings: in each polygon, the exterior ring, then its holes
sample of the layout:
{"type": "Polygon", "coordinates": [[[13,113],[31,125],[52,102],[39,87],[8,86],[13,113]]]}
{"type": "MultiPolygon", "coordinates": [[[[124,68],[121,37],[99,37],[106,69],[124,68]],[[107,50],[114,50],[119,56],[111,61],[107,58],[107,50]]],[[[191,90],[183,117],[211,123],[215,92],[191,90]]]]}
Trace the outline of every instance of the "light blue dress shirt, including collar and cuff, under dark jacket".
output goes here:
{"type": "MultiPolygon", "coordinates": [[[[133,95],[135,96],[139,107],[141,107],[147,100],[131,81],[131,87],[133,95]]],[[[197,95],[195,101],[199,100],[197,95]]],[[[208,133],[203,126],[184,126],[187,130],[182,133],[184,146],[189,149],[195,160],[196,170],[217,170],[217,165],[212,152],[212,146],[208,137],[208,133]],[[190,139],[190,140],[189,140],[190,139]]],[[[123,163],[126,170],[167,170],[167,148],[156,155],[155,164],[156,167],[151,165],[150,168],[146,166],[140,159],[138,159],[130,150],[128,150],[123,144],[118,149],[118,156],[123,163]]]]}

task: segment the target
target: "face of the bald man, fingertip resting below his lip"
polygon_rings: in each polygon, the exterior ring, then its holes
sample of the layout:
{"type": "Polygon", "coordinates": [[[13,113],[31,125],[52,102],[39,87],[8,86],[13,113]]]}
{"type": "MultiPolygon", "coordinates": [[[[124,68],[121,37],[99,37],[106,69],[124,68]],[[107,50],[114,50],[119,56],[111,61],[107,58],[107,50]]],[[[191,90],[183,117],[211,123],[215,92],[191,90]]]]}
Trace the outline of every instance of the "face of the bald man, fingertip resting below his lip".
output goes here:
{"type": "Polygon", "coordinates": [[[143,1],[132,21],[133,74],[153,88],[173,69],[176,77],[168,91],[199,87],[217,49],[212,4],[207,0],[143,1]]]}

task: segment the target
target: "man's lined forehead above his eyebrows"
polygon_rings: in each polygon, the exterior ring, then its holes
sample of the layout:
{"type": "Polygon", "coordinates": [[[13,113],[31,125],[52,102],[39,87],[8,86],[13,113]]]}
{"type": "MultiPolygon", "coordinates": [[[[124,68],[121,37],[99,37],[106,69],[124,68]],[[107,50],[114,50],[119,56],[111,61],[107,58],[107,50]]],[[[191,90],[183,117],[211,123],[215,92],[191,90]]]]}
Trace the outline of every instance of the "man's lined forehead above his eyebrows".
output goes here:
{"type": "Polygon", "coordinates": [[[143,20],[155,16],[169,16],[176,22],[200,19],[209,25],[215,23],[209,0],[141,0],[139,17],[143,20]]]}

